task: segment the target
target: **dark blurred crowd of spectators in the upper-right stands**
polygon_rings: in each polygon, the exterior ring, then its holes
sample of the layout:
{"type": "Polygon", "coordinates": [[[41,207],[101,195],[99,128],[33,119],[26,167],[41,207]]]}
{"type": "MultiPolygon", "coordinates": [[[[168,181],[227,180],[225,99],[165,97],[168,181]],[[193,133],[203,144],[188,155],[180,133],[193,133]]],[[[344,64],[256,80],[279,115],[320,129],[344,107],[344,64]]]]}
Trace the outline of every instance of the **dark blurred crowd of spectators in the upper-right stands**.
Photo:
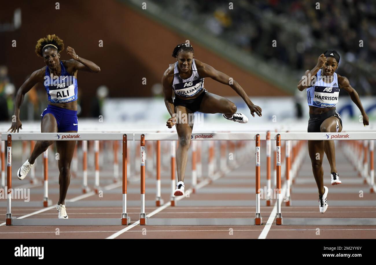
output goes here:
{"type": "MultiPolygon", "coordinates": [[[[337,0],[154,0],[171,14],[224,41],[250,51],[270,64],[296,73],[312,69],[318,56],[334,48],[340,55],[337,73],[356,83],[359,94],[376,95],[376,2],[337,0]],[[188,14],[188,15],[187,15],[188,14]],[[271,47],[273,40],[277,46],[271,47]],[[359,47],[359,41],[362,45],[359,47]]],[[[300,75],[301,76],[301,75],[300,75]]],[[[299,76],[299,78],[300,78],[299,76]]]]}

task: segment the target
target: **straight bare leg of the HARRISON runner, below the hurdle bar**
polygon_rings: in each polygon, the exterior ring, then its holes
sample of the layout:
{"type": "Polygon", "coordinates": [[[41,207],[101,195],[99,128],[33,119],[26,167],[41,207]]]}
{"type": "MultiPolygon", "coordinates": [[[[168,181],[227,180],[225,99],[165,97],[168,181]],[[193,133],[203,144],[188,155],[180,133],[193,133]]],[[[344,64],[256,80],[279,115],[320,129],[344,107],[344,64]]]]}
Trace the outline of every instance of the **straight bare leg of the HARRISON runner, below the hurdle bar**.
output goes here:
{"type": "Polygon", "coordinates": [[[316,180],[318,194],[323,195],[324,189],[324,171],[323,171],[323,156],[324,156],[324,141],[308,141],[308,152],[312,163],[312,172],[316,180]]]}

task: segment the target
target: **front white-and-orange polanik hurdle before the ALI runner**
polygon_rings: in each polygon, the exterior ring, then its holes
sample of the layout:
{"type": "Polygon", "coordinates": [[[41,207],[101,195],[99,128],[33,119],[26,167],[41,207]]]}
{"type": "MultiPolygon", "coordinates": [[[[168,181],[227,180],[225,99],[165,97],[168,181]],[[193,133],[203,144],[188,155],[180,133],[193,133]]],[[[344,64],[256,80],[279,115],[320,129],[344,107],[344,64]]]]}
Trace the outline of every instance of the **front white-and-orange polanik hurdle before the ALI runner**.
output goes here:
{"type": "MultiPolygon", "coordinates": [[[[7,139],[7,211],[6,211],[6,225],[13,226],[72,226],[72,225],[128,225],[130,224],[130,217],[127,215],[127,141],[133,140],[133,133],[2,133],[2,140],[7,139]],[[129,135],[130,137],[127,137],[129,135]],[[58,138],[57,138],[58,137],[58,138]],[[12,141],[88,141],[88,140],[110,140],[110,141],[123,141],[123,212],[121,218],[71,218],[71,219],[37,219],[25,218],[17,219],[12,217],[12,141]]],[[[98,148],[97,148],[98,149],[98,148]]],[[[44,154],[44,158],[47,153],[44,154]]],[[[45,160],[45,163],[47,161],[45,160]]],[[[46,168],[45,168],[46,170],[46,168]]],[[[47,176],[45,174],[45,176],[47,176]]],[[[99,182],[99,177],[96,176],[99,182]]],[[[48,189],[48,180],[44,180],[44,190],[48,189]]],[[[99,184],[99,183],[98,183],[99,184]]],[[[46,198],[46,193],[44,195],[46,198]]],[[[47,194],[48,198],[48,194],[47,194]]]]}

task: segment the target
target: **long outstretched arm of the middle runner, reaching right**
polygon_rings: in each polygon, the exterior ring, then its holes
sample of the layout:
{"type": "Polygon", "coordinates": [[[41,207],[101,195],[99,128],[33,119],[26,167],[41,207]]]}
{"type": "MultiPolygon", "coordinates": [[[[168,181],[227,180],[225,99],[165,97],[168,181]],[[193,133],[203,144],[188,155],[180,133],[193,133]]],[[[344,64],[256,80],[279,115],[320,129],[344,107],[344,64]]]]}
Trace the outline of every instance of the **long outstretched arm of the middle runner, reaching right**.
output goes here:
{"type": "Polygon", "coordinates": [[[239,85],[238,82],[236,82],[235,80],[231,80],[232,82],[230,82],[230,77],[227,76],[227,74],[215,70],[210,65],[204,64],[203,62],[200,62],[197,59],[195,59],[195,63],[200,77],[210,77],[211,79],[214,79],[217,82],[230,86],[235,92],[238,93],[238,95],[241,96],[241,98],[243,98],[244,102],[246,102],[248,108],[251,111],[252,116],[255,117],[253,113],[256,112],[256,114],[261,117],[261,108],[252,103],[252,101],[249,99],[248,95],[246,94],[246,92],[244,92],[244,89],[239,85]]]}

